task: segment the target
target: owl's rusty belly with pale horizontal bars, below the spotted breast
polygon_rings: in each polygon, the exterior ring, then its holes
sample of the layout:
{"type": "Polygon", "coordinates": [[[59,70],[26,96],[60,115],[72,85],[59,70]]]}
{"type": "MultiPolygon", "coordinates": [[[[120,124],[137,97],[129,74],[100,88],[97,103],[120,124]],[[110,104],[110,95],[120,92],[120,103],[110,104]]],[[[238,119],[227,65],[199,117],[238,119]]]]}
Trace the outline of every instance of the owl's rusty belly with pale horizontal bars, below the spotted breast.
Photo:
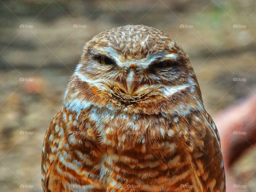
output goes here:
{"type": "MultiPolygon", "coordinates": [[[[72,150],[66,167],[70,180],[78,179],[75,186],[86,186],[84,191],[168,191],[190,183],[189,160],[179,148],[179,141],[162,140],[158,143],[140,143],[133,149],[117,149],[112,146],[86,143],[89,149],[72,150]],[[71,166],[71,162],[76,162],[71,166]],[[75,170],[71,170],[76,167],[75,170]],[[74,173],[75,171],[75,173],[74,173]],[[73,178],[76,176],[75,178],[73,178]]],[[[64,166],[64,167],[65,167],[64,166]]],[[[82,191],[83,191],[82,190],[82,191]]]]}

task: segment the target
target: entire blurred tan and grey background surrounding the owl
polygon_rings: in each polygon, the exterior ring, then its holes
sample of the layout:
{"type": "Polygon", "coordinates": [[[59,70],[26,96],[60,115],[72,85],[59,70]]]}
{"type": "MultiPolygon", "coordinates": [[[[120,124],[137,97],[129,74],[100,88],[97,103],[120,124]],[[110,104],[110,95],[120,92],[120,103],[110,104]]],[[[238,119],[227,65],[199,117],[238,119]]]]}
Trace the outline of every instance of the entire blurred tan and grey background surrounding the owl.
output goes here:
{"type": "Polygon", "coordinates": [[[187,51],[222,138],[227,191],[256,191],[256,1],[0,0],[0,191],[40,191],[46,129],[91,37],[143,24],[187,51]]]}

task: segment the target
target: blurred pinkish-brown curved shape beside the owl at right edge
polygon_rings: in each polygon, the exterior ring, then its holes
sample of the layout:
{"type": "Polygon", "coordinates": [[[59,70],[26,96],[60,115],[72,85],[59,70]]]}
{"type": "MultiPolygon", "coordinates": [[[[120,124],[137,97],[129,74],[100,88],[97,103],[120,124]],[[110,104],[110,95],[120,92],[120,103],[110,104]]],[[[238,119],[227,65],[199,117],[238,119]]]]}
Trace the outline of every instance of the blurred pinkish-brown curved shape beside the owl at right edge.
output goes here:
{"type": "Polygon", "coordinates": [[[213,116],[221,138],[227,191],[256,189],[255,115],[256,95],[253,95],[213,116]]]}

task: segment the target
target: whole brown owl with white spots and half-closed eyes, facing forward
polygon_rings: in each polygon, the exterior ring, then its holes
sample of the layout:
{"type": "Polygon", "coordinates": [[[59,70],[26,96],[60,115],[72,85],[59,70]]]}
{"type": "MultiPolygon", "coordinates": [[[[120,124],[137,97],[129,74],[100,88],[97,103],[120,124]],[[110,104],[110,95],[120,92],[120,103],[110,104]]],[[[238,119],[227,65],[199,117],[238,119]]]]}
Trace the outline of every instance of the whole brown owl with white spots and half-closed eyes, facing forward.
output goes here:
{"type": "Polygon", "coordinates": [[[220,145],[186,51],[115,27],[83,47],[44,138],[42,191],[224,192],[220,145]]]}

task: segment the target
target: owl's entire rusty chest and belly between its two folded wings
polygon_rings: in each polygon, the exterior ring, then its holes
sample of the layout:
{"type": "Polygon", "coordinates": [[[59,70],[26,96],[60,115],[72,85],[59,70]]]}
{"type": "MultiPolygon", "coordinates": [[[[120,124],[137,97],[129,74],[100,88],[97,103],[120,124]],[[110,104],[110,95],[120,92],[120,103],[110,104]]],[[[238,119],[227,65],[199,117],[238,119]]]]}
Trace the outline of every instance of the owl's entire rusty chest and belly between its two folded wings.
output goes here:
{"type": "Polygon", "coordinates": [[[178,118],[96,114],[86,125],[78,125],[78,132],[86,133],[75,135],[79,148],[67,151],[71,158],[77,157],[73,159],[79,166],[76,173],[87,186],[108,186],[114,191],[130,191],[133,186],[132,190],[138,191],[155,185],[160,191],[168,188],[166,182],[173,185],[189,175],[189,169],[184,173],[182,169],[190,164],[181,134],[187,127],[179,126],[178,118]]]}

